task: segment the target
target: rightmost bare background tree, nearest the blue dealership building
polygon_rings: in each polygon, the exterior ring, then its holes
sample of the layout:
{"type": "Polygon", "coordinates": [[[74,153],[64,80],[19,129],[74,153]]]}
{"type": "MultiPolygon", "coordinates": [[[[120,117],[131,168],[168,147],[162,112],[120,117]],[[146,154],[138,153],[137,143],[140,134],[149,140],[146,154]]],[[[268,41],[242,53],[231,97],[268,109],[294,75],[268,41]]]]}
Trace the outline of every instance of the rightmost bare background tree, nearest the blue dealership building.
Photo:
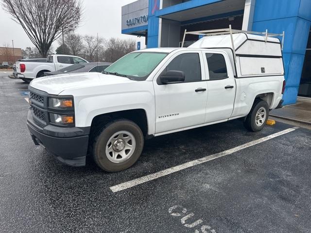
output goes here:
{"type": "Polygon", "coordinates": [[[136,50],[134,40],[122,40],[119,38],[110,38],[105,43],[104,57],[106,62],[115,62],[125,54],[136,50]]]}

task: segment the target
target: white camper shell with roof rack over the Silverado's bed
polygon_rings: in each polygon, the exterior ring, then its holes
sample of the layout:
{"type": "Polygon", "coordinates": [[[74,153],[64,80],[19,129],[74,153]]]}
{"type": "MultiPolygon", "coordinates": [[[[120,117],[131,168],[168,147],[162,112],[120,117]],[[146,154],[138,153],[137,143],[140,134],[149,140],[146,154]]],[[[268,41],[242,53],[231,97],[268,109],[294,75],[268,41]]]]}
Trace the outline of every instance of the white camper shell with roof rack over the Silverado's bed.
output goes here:
{"type": "MultiPolygon", "coordinates": [[[[214,30],[185,32],[185,34],[206,35],[189,48],[224,50],[230,58],[236,78],[284,75],[282,44],[278,38],[284,34],[243,32],[222,29],[223,34],[214,30]],[[231,33],[230,33],[231,31],[231,33]]],[[[217,30],[219,32],[219,30],[217,30]]]]}

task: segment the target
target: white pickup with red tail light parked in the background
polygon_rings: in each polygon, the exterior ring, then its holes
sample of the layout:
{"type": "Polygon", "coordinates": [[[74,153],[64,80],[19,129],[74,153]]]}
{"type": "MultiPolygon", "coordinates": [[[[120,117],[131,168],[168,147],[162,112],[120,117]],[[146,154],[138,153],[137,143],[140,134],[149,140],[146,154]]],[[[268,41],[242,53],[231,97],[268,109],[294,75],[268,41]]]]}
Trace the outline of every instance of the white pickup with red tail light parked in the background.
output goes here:
{"type": "Polygon", "coordinates": [[[26,83],[30,83],[33,79],[43,77],[44,72],[51,72],[62,69],[64,67],[71,66],[72,64],[87,63],[81,57],[71,55],[49,55],[45,62],[38,59],[32,59],[32,61],[17,61],[17,77],[26,83]]]}

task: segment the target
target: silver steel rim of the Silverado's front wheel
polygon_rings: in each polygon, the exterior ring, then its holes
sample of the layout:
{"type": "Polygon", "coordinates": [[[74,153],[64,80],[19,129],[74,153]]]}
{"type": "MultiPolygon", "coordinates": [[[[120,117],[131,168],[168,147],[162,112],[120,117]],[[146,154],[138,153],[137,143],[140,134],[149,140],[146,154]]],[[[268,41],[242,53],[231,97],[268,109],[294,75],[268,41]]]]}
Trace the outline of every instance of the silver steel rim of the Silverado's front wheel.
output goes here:
{"type": "Polygon", "coordinates": [[[134,135],[128,131],[119,131],[109,138],[105,150],[106,157],[112,163],[122,163],[132,156],[135,147],[134,135]]]}

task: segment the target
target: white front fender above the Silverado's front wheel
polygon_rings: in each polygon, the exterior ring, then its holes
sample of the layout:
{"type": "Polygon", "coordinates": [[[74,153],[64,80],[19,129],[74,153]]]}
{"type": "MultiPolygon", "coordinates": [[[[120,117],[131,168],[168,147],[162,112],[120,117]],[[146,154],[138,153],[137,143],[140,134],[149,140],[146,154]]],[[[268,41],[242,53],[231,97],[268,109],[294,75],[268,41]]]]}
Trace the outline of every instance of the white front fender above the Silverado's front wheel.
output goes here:
{"type": "MultiPolygon", "coordinates": [[[[75,97],[74,94],[66,91],[66,94],[74,96],[76,127],[89,127],[92,124],[93,118],[102,114],[143,109],[147,115],[148,134],[154,134],[155,97],[152,82],[138,83],[141,83],[141,85],[136,86],[135,83],[128,83],[126,85],[128,91],[111,93],[113,90],[124,89],[123,85],[119,84],[114,87],[111,86],[109,88],[110,93],[108,89],[103,88],[102,93],[96,94],[97,91],[93,90],[93,95],[80,97],[75,97]]],[[[88,91],[85,90],[84,92],[86,93],[88,91]]]]}

